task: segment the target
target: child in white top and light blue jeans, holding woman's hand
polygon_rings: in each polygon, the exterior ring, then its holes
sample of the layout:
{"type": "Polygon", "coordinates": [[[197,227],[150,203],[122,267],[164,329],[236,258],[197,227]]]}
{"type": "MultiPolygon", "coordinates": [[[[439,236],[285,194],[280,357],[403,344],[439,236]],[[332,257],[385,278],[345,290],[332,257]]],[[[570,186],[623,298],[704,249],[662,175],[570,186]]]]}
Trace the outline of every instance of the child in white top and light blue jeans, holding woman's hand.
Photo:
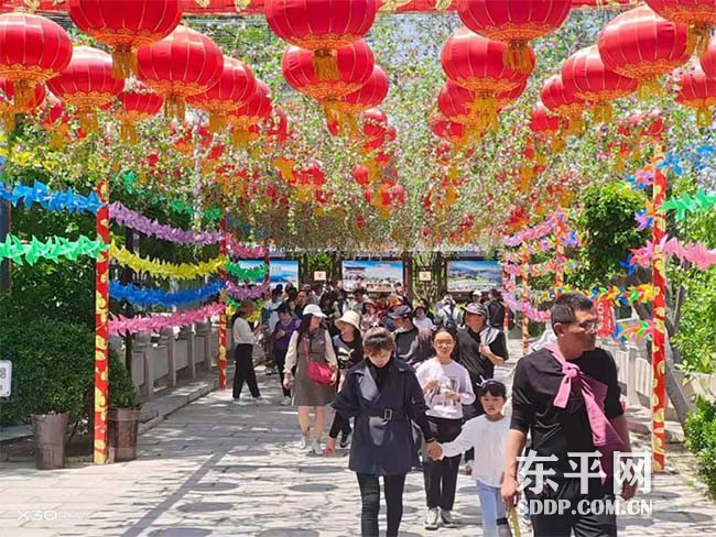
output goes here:
{"type": "Polygon", "coordinates": [[[499,381],[482,383],[480,402],[485,414],[463,425],[459,436],[441,446],[443,457],[455,457],[470,448],[475,449],[473,476],[477,482],[482,507],[482,530],[485,537],[497,537],[498,520],[506,524],[505,503],[500,497],[500,481],[505,468],[505,451],[510,420],[502,414],[507,390],[499,381]]]}

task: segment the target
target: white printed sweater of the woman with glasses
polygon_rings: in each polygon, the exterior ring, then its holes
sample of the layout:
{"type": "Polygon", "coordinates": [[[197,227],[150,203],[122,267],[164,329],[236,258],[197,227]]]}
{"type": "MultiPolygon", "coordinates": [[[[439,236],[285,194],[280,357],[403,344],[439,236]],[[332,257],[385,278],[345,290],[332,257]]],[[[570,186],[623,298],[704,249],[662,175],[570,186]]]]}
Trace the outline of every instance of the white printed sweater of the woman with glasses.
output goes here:
{"type": "Polygon", "coordinates": [[[437,381],[437,386],[424,392],[428,416],[445,419],[462,419],[463,405],[475,402],[475,392],[467,370],[457,362],[442,364],[437,358],[423,362],[417,368],[417,381],[425,386],[430,381],[437,381]],[[459,401],[449,401],[448,391],[457,392],[459,401]]]}

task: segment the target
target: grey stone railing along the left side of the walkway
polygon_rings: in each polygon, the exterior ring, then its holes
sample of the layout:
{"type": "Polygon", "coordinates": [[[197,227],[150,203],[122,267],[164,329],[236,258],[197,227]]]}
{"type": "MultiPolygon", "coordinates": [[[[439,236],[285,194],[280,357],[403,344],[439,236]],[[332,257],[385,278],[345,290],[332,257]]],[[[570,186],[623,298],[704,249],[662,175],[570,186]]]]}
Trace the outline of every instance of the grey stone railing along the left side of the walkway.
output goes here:
{"type": "MultiPolygon", "coordinates": [[[[110,346],[119,355],[124,355],[121,338],[110,338],[110,346]]],[[[231,330],[227,330],[227,348],[232,348],[231,330]]],[[[156,390],[208,371],[216,365],[218,354],[218,327],[210,322],[186,326],[176,332],[162,330],[159,338],[139,332],[132,338],[132,381],[144,399],[151,399],[156,390]]]]}

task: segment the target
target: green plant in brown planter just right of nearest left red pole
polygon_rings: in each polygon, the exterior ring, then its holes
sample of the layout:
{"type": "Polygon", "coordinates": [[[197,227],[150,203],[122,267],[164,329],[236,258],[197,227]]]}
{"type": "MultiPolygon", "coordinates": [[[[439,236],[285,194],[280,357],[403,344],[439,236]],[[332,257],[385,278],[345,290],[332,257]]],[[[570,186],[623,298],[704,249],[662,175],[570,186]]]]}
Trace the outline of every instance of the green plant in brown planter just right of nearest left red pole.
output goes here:
{"type": "Polygon", "coordinates": [[[139,392],[124,364],[112,354],[109,361],[109,410],[107,413],[111,462],[131,461],[137,458],[140,414],[139,392]]]}

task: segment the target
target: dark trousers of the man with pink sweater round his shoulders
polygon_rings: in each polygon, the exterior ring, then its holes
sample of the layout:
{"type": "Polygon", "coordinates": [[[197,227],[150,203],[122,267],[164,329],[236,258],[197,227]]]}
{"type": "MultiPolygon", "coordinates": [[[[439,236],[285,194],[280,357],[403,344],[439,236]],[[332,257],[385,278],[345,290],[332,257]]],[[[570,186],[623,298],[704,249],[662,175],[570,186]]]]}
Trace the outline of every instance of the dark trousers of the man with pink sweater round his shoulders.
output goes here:
{"type": "Polygon", "coordinates": [[[597,509],[597,512],[601,512],[601,514],[597,515],[585,511],[585,505],[594,501],[614,501],[611,480],[607,480],[601,484],[600,479],[592,479],[589,480],[588,493],[582,494],[578,478],[551,476],[550,479],[556,482],[556,491],[545,483],[544,490],[539,495],[535,495],[528,486],[524,490],[527,500],[566,500],[569,505],[562,514],[558,512],[553,515],[530,514],[534,537],[569,537],[572,533],[574,533],[574,537],[617,536],[617,517],[614,512],[608,514],[608,508],[601,508],[597,509]]]}

